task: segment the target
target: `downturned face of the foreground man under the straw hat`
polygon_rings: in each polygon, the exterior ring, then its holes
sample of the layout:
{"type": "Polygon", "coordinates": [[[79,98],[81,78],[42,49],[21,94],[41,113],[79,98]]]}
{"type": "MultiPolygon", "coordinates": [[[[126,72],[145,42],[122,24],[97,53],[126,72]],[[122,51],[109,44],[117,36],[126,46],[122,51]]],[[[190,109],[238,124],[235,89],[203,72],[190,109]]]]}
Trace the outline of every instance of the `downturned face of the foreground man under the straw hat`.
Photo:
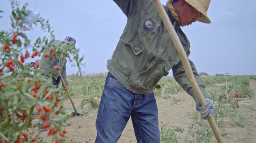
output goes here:
{"type": "Polygon", "coordinates": [[[182,7],[179,10],[179,19],[180,19],[180,25],[186,26],[191,25],[193,22],[196,22],[196,19],[198,19],[201,16],[201,13],[198,12],[194,7],[192,7],[190,4],[188,4],[186,1],[182,1],[182,7]]]}

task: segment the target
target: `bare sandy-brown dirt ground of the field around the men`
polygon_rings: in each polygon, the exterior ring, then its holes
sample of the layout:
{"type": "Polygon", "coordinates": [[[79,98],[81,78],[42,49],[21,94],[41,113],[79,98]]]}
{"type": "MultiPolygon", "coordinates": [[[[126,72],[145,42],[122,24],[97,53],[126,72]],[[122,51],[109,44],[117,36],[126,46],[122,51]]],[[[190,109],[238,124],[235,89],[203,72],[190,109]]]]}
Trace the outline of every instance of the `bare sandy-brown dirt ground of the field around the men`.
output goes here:
{"type": "MultiPolygon", "coordinates": [[[[249,107],[256,108],[256,81],[250,80],[250,87],[252,88],[255,95],[253,98],[241,101],[240,108],[249,107]]],[[[73,102],[76,107],[80,105],[82,98],[74,98],[73,102]]],[[[188,135],[189,123],[192,122],[191,115],[188,114],[195,111],[195,104],[191,96],[186,92],[181,92],[176,95],[172,95],[171,98],[156,99],[159,111],[159,125],[160,122],[168,124],[168,127],[175,128],[176,126],[185,127],[183,133],[176,132],[180,143],[195,143],[190,135],[188,135]],[[181,102],[171,105],[173,98],[182,99],[181,102]],[[193,107],[193,108],[192,108],[193,107]]],[[[72,107],[69,100],[64,101],[65,107],[72,107]]],[[[67,130],[67,143],[94,143],[97,131],[95,128],[95,121],[97,112],[89,112],[88,116],[73,117],[68,120],[71,123],[70,126],[66,127],[67,130]],[[78,127],[80,124],[80,128],[78,127]]],[[[256,143],[256,111],[249,112],[249,125],[245,128],[239,127],[232,120],[225,120],[225,128],[228,132],[227,136],[223,137],[225,143],[256,143]]],[[[44,138],[47,137],[47,131],[40,133],[44,138]]],[[[45,138],[47,139],[47,138],[45,138]]],[[[47,142],[51,142],[48,140],[47,142]]],[[[121,138],[118,143],[136,143],[133,127],[131,120],[128,121],[121,138]]],[[[211,143],[217,143],[214,135],[212,136],[211,143]]]]}

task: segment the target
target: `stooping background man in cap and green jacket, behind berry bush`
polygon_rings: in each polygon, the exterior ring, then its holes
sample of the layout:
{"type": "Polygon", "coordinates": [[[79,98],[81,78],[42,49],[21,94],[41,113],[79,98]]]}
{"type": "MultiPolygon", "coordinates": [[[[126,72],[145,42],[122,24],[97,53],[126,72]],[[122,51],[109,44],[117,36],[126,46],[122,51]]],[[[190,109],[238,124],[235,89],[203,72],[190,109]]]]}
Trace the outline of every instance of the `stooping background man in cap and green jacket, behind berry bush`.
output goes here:
{"type": "MultiPolygon", "coordinates": [[[[73,49],[76,49],[75,44],[76,44],[76,39],[67,36],[63,41],[60,40],[55,40],[52,45],[54,45],[55,47],[58,46],[63,46],[64,43],[70,44],[72,43],[74,45],[73,49]]],[[[66,76],[66,63],[67,63],[67,59],[65,57],[65,55],[63,55],[63,57],[61,57],[61,55],[59,54],[55,54],[54,50],[52,50],[54,48],[51,48],[50,51],[46,51],[43,53],[43,56],[41,58],[40,61],[40,65],[39,68],[42,69],[42,74],[44,74],[45,76],[49,77],[50,75],[52,75],[52,84],[58,86],[60,81],[61,81],[61,77],[58,75],[57,71],[61,72],[61,75],[64,79],[65,84],[68,86],[68,82],[67,82],[67,76],[66,76]],[[50,53],[49,53],[50,52],[50,53]],[[49,55],[49,57],[48,57],[49,55]]],[[[64,85],[62,85],[64,88],[64,85]]],[[[68,90],[68,88],[64,88],[65,91],[68,90]]]]}

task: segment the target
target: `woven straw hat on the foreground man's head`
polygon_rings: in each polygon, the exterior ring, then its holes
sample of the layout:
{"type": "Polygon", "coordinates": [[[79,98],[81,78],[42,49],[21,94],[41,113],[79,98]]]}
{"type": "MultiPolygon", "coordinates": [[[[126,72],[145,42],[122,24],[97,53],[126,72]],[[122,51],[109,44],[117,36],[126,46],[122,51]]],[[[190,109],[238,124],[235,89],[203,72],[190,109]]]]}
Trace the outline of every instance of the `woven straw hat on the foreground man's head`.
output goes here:
{"type": "Polygon", "coordinates": [[[196,10],[202,13],[202,16],[199,17],[197,21],[200,21],[203,23],[211,23],[211,20],[207,16],[207,10],[211,0],[185,0],[185,1],[189,3],[191,6],[193,6],[196,10]]]}

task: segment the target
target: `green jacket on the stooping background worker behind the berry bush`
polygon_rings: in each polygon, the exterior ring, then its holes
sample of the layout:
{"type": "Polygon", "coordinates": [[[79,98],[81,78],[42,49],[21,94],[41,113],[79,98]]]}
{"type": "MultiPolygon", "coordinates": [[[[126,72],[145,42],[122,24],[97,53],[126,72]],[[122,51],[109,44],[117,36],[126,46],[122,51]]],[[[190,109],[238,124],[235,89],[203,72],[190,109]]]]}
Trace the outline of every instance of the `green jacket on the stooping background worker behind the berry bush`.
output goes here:
{"type": "MultiPolygon", "coordinates": [[[[62,46],[63,42],[59,41],[59,40],[55,40],[52,44],[54,44],[55,46],[62,46]]],[[[46,51],[43,53],[43,56],[41,58],[40,64],[39,64],[39,68],[42,69],[42,73],[45,75],[52,75],[52,77],[54,77],[56,80],[59,77],[57,71],[54,70],[54,66],[60,66],[60,72],[61,75],[66,83],[66,85],[68,85],[67,82],[67,76],[66,76],[66,63],[67,63],[67,59],[64,55],[63,60],[61,60],[60,55],[56,54],[55,57],[52,56],[52,52],[50,52],[50,57],[45,58],[46,51]]],[[[62,85],[64,86],[64,85],[62,85]]]]}

